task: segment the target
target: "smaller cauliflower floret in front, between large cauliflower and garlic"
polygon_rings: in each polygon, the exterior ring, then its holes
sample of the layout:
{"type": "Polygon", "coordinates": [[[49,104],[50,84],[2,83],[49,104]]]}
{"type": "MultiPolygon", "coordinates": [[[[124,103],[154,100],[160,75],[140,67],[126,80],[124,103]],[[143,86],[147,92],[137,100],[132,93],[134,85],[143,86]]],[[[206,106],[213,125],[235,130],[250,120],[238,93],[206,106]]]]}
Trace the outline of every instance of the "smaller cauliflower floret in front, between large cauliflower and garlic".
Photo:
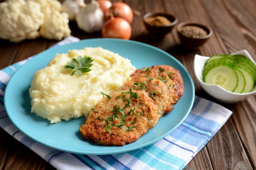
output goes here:
{"type": "Polygon", "coordinates": [[[40,34],[47,39],[57,39],[70,36],[68,26],[68,14],[66,12],[53,11],[44,15],[44,24],[40,28],[40,34]]]}

